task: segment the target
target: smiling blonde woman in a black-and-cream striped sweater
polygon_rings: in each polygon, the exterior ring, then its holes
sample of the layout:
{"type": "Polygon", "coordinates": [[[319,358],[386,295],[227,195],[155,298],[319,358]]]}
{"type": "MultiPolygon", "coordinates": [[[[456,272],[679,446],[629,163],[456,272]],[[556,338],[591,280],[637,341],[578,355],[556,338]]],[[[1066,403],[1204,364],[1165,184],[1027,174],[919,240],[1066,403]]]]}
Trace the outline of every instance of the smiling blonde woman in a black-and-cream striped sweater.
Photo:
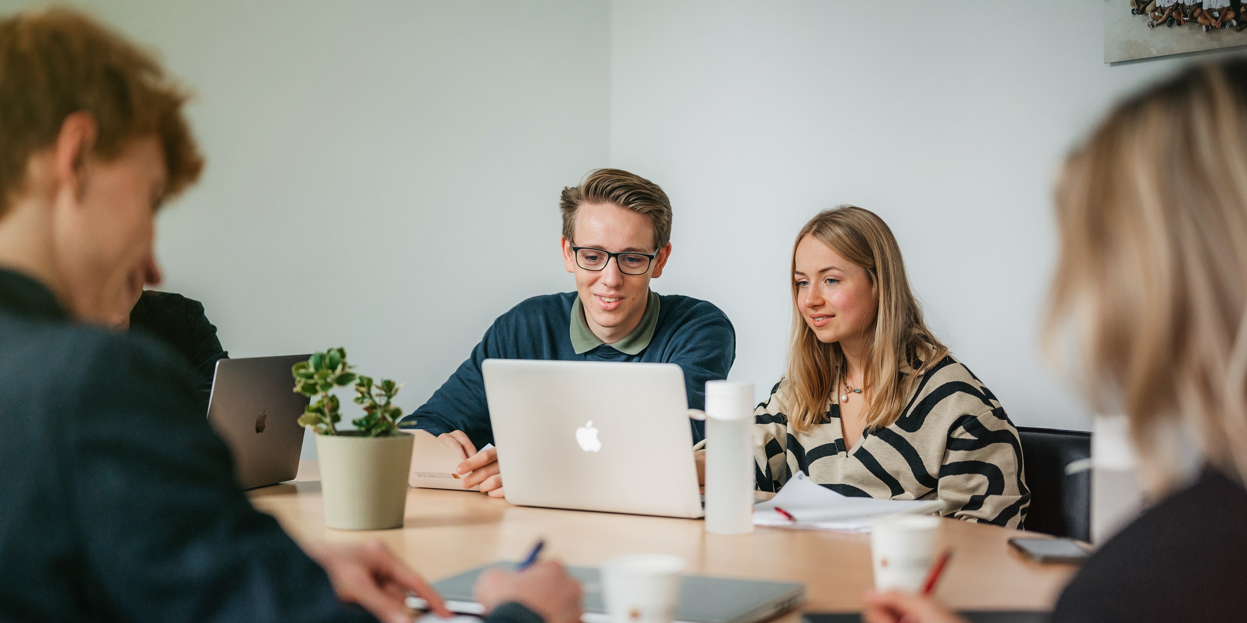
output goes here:
{"type": "Polygon", "coordinates": [[[758,488],[797,471],[848,496],[935,500],[1019,527],[1030,493],[996,397],[923,324],[887,223],[853,206],[812,218],[792,259],[788,373],[758,406],[758,488]]]}

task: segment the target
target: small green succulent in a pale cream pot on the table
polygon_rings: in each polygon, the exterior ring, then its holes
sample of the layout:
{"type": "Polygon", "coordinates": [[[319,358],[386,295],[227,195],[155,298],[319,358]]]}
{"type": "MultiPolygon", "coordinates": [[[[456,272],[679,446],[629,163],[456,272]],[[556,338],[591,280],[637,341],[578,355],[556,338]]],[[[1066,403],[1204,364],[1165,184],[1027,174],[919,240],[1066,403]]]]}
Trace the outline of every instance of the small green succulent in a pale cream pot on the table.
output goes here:
{"type": "Polygon", "coordinates": [[[291,371],[294,391],[313,399],[299,424],[317,434],[325,526],[402,527],[413,437],[398,427],[403,410],[393,401],[400,385],[389,379],[373,383],[355,374],[342,348],[317,353],[294,364],[291,371]],[[340,402],[333,391],[352,384],[354,401],[363,405],[364,416],[352,420],[355,430],[339,431],[340,402]]]}

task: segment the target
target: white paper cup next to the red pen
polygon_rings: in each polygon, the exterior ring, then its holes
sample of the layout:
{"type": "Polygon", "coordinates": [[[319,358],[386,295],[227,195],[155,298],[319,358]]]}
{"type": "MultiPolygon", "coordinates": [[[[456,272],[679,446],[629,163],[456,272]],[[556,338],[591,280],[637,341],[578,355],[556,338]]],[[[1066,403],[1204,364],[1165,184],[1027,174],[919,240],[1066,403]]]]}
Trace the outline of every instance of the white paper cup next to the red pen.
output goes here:
{"type": "Polygon", "coordinates": [[[935,537],[939,517],[894,515],[870,526],[870,562],[875,591],[922,589],[935,564],[935,537]]]}

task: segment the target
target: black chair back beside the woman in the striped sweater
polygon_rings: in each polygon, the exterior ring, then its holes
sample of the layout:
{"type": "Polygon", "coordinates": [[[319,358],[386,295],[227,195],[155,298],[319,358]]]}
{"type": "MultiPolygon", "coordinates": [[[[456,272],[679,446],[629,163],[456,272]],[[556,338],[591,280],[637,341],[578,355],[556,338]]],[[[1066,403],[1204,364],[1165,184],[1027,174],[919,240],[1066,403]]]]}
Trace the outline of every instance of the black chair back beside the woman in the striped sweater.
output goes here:
{"type": "Polygon", "coordinates": [[[1091,470],[1066,473],[1091,457],[1091,434],[1018,426],[1030,510],[1026,530],[1091,541],[1091,470]]]}

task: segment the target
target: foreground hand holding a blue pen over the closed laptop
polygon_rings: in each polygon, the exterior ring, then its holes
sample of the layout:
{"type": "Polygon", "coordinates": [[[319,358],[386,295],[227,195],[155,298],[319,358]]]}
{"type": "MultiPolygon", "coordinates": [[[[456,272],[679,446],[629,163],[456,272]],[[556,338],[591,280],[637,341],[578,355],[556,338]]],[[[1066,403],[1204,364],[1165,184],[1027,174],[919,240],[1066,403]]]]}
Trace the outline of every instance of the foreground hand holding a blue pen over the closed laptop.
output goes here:
{"type": "Polygon", "coordinates": [[[557,562],[539,562],[520,573],[486,571],[476,581],[475,593],[485,612],[519,602],[546,623],[580,623],[580,582],[557,562]]]}

